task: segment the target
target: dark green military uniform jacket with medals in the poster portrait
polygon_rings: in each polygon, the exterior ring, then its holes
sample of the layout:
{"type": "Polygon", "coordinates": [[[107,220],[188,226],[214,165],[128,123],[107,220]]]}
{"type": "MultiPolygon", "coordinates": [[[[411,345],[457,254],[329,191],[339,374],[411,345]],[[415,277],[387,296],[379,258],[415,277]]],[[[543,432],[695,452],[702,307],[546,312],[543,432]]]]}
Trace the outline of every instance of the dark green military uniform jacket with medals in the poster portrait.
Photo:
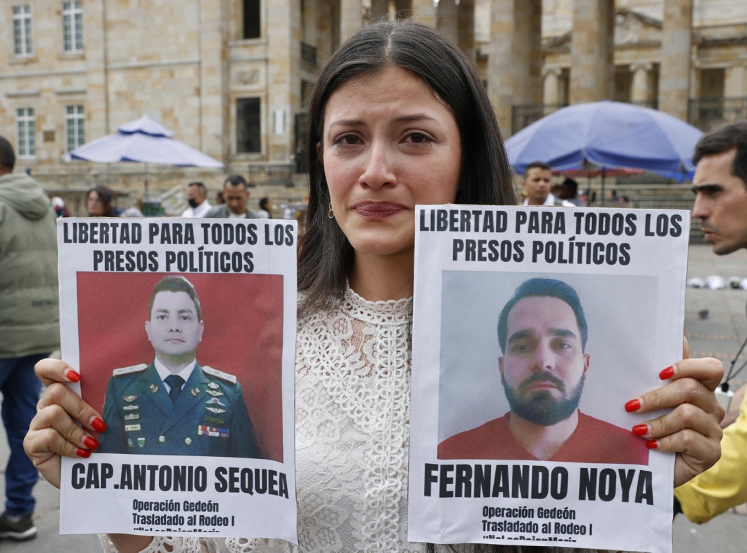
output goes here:
{"type": "Polygon", "coordinates": [[[155,365],[115,369],[104,399],[99,452],[260,457],[234,375],[195,367],[171,402],[155,365]]]}

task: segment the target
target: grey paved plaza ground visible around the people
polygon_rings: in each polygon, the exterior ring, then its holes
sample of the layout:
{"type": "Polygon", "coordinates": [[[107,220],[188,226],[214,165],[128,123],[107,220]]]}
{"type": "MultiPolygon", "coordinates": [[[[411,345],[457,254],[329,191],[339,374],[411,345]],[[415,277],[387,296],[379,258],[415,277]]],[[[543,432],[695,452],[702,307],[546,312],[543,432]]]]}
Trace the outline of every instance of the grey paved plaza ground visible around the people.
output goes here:
{"type": "MultiPolygon", "coordinates": [[[[747,250],[728,256],[716,256],[710,246],[690,246],[688,278],[707,278],[720,275],[724,278],[739,276],[747,278],[747,250]]],[[[685,304],[686,335],[692,357],[717,357],[725,369],[742,340],[747,335],[745,290],[688,289],[685,304]],[[708,310],[705,318],[698,314],[708,310]]],[[[740,356],[743,363],[747,354],[740,356]]],[[[735,379],[735,387],[747,382],[747,371],[735,379]]],[[[7,462],[8,450],[4,431],[0,429],[0,466],[7,462]]],[[[4,492],[4,483],[0,481],[4,492]]],[[[100,552],[96,536],[60,536],[60,502],[58,490],[45,481],[35,488],[37,511],[35,514],[39,537],[26,543],[0,541],[2,553],[93,553],[100,552]]],[[[634,531],[634,528],[631,528],[634,531]]],[[[747,516],[726,513],[706,525],[695,525],[684,516],[678,516],[674,524],[675,553],[743,553],[747,544],[747,516]]]]}

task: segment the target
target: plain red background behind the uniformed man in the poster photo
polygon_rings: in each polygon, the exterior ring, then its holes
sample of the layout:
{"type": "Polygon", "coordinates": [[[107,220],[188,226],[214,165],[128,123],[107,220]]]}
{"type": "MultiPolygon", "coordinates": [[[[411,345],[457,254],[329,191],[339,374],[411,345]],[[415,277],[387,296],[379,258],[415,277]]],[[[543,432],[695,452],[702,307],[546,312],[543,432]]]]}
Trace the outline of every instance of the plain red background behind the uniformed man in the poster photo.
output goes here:
{"type": "MultiPolygon", "coordinates": [[[[167,274],[78,272],[81,395],[99,412],[114,369],[155,357],[148,301],[167,274]]],[[[205,322],[197,363],[236,375],[263,457],[282,463],[282,275],[184,276],[205,322]]]]}

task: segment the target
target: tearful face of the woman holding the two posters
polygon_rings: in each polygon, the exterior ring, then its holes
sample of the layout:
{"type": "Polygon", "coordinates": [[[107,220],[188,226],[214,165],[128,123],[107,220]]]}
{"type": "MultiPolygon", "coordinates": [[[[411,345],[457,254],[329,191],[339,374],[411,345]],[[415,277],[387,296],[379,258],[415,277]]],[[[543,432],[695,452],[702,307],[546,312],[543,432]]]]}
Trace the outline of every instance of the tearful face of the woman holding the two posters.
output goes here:
{"type": "Polygon", "coordinates": [[[357,254],[415,246],[415,204],[456,199],[462,148],[450,110],[398,67],[347,81],[324,110],[320,159],[335,220],[357,254]]]}

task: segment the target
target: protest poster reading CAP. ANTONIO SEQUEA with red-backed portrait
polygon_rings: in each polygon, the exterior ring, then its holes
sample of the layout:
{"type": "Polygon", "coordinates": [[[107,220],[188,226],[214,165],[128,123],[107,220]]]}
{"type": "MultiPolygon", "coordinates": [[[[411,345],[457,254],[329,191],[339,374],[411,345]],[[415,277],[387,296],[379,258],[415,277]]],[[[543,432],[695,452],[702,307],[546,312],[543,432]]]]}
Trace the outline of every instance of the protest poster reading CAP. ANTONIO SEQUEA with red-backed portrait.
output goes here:
{"type": "Polygon", "coordinates": [[[286,220],[58,220],[62,356],[107,425],[63,458],[61,534],[297,543],[296,240],[286,220]]]}

